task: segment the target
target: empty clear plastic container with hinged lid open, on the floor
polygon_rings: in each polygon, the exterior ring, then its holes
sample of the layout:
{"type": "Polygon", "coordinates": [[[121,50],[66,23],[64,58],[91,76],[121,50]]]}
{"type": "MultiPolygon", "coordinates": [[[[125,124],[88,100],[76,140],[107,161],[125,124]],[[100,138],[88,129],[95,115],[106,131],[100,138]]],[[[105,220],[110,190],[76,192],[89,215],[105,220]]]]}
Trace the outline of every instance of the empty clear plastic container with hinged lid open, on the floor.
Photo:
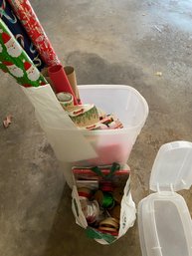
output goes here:
{"type": "Polygon", "coordinates": [[[176,193],[192,184],[192,143],[162,145],[155,158],[150,189],[139,202],[138,227],[143,256],[191,256],[192,221],[184,198],[176,193]]]}

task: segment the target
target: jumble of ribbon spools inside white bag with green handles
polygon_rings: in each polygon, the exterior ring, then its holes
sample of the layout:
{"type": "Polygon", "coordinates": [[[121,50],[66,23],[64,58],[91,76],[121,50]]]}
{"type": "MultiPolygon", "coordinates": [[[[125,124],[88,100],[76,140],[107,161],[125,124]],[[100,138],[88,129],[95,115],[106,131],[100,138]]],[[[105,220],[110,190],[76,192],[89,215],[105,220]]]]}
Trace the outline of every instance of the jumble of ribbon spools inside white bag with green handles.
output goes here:
{"type": "Polygon", "coordinates": [[[117,236],[120,204],[129,178],[129,167],[114,162],[99,167],[75,166],[72,170],[88,225],[101,233],[117,236]],[[99,172],[96,171],[98,168],[99,172]],[[114,171],[111,173],[112,168],[114,171]]]}

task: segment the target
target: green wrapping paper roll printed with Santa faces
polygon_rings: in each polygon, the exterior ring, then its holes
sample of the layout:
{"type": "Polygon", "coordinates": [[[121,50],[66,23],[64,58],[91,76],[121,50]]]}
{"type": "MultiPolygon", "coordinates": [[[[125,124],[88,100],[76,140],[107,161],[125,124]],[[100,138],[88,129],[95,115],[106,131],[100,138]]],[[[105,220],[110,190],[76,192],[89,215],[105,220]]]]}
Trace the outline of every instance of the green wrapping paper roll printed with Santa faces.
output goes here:
{"type": "Polygon", "coordinates": [[[33,62],[1,19],[0,69],[9,73],[16,79],[18,84],[24,87],[39,87],[47,84],[46,79],[34,66],[33,62]]]}

